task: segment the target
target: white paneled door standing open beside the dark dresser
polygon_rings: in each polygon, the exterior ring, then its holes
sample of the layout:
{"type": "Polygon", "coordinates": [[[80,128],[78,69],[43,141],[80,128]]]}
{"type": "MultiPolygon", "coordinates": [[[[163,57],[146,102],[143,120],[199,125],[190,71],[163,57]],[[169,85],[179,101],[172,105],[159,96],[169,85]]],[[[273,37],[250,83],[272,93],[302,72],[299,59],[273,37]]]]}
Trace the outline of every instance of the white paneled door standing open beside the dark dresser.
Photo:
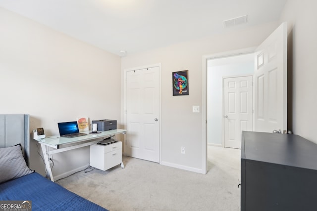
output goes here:
{"type": "Polygon", "coordinates": [[[254,130],[287,131],[287,23],[256,49],[254,91],[254,130]]]}

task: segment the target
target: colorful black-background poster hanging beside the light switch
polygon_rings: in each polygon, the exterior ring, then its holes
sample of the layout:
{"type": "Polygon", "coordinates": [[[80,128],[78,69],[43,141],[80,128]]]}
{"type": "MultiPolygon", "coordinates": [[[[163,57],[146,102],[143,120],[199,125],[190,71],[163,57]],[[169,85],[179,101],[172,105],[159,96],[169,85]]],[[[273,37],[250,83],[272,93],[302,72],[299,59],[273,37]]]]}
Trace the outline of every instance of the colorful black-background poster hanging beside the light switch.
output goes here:
{"type": "Polygon", "coordinates": [[[172,73],[173,96],[189,95],[188,70],[172,73]]]}

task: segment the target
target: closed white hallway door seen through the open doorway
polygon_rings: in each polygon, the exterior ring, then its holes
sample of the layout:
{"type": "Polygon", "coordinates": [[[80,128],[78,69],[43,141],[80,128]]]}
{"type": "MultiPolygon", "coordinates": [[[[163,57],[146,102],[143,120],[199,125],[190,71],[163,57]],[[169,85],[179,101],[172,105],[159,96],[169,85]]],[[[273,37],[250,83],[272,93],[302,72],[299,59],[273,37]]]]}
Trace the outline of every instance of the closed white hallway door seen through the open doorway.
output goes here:
{"type": "Polygon", "coordinates": [[[223,79],[224,147],[241,149],[241,131],[252,131],[252,76],[223,79]]]}

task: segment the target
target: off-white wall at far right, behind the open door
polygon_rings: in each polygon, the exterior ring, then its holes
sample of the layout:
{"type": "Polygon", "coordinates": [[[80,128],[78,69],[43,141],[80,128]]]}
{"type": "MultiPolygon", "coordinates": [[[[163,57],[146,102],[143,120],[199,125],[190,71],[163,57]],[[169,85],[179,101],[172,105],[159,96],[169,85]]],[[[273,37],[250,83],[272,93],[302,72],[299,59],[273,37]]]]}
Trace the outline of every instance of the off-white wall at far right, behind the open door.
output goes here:
{"type": "Polygon", "coordinates": [[[288,0],[280,22],[288,22],[290,129],[317,143],[317,1],[288,0]]]}

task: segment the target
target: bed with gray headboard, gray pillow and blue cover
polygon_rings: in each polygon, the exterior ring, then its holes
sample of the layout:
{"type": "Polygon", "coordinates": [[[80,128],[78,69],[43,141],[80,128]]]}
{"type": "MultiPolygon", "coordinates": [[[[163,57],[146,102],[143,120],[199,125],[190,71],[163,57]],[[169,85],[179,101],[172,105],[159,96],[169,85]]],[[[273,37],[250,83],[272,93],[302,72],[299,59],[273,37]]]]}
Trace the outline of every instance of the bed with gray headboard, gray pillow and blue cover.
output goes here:
{"type": "Polygon", "coordinates": [[[29,118],[0,115],[0,204],[19,201],[15,203],[28,203],[32,211],[107,211],[28,168],[29,118]]]}

